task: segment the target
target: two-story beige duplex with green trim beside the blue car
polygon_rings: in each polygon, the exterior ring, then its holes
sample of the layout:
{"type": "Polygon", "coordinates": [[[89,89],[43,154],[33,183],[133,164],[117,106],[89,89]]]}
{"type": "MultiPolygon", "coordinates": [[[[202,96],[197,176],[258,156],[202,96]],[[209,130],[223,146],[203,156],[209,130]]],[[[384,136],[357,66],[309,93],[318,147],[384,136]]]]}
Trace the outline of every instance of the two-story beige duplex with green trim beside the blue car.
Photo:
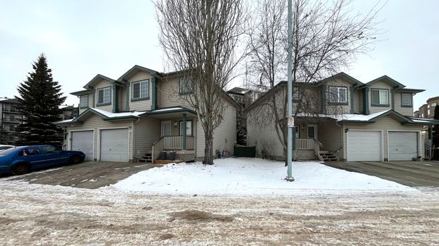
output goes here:
{"type": "MultiPolygon", "coordinates": [[[[192,81],[181,73],[159,73],[134,66],[117,80],[96,75],[79,98],[79,116],[67,125],[67,148],[86,153],[87,160],[155,161],[175,152],[184,161],[204,158],[204,131],[197,112],[185,101],[192,81]]],[[[213,135],[213,149],[233,154],[238,104],[225,92],[223,122],[213,135]]]]}

